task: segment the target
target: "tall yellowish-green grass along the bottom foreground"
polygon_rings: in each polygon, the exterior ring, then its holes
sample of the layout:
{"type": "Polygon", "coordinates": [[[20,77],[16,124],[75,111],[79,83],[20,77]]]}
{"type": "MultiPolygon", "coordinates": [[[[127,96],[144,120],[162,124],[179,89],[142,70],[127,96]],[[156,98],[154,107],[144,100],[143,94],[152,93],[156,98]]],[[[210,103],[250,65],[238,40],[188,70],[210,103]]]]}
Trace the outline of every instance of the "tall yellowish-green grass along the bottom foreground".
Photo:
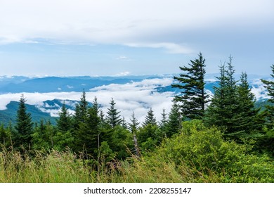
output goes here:
{"type": "MultiPolygon", "coordinates": [[[[201,172],[185,165],[183,161],[178,165],[164,154],[155,153],[111,163],[105,163],[102,159],[100,170],[97,169],[97,165],[91,167],[70,150],[20,153],[3,148],[0,151],[0,183],[238,182],[237,174],[228,177],[226,170],[221,174],[214,170],[201,172]]],[[[252,179],[250,182],[256,181],[252,179]]]]}

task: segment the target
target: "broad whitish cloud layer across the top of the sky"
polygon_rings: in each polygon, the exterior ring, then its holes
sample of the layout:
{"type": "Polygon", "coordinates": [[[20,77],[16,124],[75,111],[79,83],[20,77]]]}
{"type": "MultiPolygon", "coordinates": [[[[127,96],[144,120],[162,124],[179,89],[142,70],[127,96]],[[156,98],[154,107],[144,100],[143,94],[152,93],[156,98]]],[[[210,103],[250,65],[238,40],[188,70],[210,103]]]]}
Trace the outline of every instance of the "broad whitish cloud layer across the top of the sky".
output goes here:
{"type": "MultiPolygon", "coordinates": [[[[0,43],[143,43],[183,53],[167,32],[273,20],[272,0],[1,0],[0,43]]],[[[186,38],[187,39],[187,38],[186,38]]],[[[188,51],[188,50],[187,50],[188,51]]]]}

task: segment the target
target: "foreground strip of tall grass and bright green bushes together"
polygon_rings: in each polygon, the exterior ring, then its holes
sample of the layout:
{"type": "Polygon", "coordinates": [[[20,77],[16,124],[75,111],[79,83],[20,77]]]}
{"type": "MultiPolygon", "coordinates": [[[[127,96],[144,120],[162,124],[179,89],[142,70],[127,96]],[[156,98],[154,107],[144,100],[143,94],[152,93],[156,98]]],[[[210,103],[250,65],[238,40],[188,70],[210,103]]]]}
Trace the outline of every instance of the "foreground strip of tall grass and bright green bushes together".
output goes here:
{"type": "Polygon", "coordinates": [[[67,151],[0,151],[1,183],[274,182],[274,163],[249,144],[224,141],[218,129],[184,122],[181,134],[126,160],[82,160],[67,151]]]}

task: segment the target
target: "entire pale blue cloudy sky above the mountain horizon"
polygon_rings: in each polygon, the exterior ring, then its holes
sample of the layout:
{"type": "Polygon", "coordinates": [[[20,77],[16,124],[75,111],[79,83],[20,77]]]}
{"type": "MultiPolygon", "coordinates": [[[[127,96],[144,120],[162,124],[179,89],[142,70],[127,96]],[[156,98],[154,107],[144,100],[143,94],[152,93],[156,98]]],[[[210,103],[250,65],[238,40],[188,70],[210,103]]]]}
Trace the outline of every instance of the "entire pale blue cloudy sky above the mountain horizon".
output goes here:
{"type": "Polygon", "coordinates": [[[273,0],[0,0],[0,75],[160,75],[202,52],[208,73],[269,75],[273,0]]]}

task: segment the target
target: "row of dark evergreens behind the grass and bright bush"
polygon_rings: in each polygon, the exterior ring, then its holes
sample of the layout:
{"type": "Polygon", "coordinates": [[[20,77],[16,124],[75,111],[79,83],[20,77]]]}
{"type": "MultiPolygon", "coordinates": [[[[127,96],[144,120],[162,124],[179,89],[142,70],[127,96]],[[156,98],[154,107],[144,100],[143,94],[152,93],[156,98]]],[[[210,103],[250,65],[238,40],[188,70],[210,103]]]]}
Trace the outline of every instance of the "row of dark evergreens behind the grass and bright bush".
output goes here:
{"type": "MultiPolygon", "coordinates": [[[[69,113],[64,103],[56,126],[44,120],[34,124],[26,111],[26,98],[22,95],[16,124],[0,127],[0,143],[4,148],[13,147],[21,152],[64,151],[69,147],[79,158],[98,164],[101,158],[105,162],[113,158],[124,160],[131,155],[140,158],[146,151],[155,151],[162,141],[181,134],[183,122],[200,120],[207,128],[221,130],[224,140],[250,144],[252,152],[273,157],[274,107],[256,108],[247,74],[242,72],[240,81],[235,80],[232,57],[228,63],[219,66],[218,87],[214,87],[214,95],[210,97],[204,89],[205,67],[202,53],[188,66],[180,67],[182,73],[174,77],[176,83],[172,87],[181,89],[181,94],[174,97],[169,114],[163,110],[159,122],[152,108],[144,122],[138,122],[134,113],[130,122],[126,122],[113,98],[104,114],[97,98],[89,105],[83,91],[74,115],[69,113]]],[[[271,68],[271,77],[274,78],[274,65],[271,68]]],[[[273,80],[261,81],[270,96],[268,101],[274,103],[273,80]]]]}

